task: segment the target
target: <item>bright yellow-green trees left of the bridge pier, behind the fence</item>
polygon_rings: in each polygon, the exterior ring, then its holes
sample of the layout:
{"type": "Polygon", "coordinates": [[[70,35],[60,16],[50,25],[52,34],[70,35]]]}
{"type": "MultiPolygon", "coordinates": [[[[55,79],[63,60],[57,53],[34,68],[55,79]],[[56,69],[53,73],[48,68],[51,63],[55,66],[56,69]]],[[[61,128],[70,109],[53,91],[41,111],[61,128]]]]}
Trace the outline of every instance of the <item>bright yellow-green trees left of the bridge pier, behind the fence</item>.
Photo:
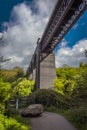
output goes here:
{"type": "MultiPolygon", "coordinates": [[[[0,72],[0,113],[7,114],[9,103],[5,103],[10,99],[29,96],[34,88],[34,81],[24,78],[24,71],[19,67],[12,70],[1,69],[0,72]]],[[[10,107],[15,107],[15,104],[10,107]]]]}

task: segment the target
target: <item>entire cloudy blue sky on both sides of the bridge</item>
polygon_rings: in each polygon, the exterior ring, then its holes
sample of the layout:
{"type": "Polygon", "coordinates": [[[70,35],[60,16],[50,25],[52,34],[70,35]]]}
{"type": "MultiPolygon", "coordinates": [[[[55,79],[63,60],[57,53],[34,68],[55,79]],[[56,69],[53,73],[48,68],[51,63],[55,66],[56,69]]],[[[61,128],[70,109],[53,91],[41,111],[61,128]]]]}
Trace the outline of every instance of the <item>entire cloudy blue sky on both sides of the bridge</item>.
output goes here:
{"type": "MultiPolygon", "coordinates": [[[[37,39],[42,37],[57,0],[0,0],[0,56],[11,58],[0,63],[11,69],[27,69],[37,39]]],[[[54,50],[56,67],[77,67],[87,62],[87,11],[54,50]]]]}

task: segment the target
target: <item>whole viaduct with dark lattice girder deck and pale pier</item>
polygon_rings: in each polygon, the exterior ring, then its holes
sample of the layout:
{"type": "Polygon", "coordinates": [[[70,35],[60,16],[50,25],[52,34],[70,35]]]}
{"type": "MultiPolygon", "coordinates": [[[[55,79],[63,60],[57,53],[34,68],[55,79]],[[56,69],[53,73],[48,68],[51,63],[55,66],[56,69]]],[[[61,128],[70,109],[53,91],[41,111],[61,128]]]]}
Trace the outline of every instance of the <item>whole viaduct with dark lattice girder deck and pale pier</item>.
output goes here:
{"type": "Polygon", "coordinates": [[[56,77],[53,50],[87,9],[87,0],[58,0],[27,69],[35,89],[53,87],[56,77]]]}

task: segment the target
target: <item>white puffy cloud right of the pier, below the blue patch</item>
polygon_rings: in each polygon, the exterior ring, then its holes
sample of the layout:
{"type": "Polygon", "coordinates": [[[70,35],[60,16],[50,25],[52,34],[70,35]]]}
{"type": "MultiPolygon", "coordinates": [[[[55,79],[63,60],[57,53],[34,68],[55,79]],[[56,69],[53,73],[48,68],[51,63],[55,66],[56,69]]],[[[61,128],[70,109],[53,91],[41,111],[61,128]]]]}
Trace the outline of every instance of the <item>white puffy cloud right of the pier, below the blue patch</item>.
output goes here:
{"type": "Polygon", "coordinates": [[[87,49],[87,39],[83,39],[76,43],[73,48],[64,46],[55,54],[56,67],[61,67],[64,64],[70,66],[78,66],[80,62],[87,62],[84,55],[84,50],[87,49]]]}

